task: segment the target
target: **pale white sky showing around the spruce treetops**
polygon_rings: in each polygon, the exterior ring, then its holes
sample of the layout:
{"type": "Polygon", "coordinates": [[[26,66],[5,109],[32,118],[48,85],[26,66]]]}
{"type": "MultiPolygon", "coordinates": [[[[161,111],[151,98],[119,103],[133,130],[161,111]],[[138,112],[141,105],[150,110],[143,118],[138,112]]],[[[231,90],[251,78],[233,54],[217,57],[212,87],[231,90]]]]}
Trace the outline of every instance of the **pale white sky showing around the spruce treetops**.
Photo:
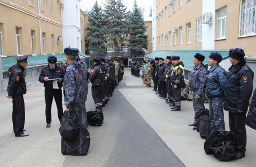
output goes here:
{"type": "MultiPolygon", "coordinates": [[[[149,7],[152,6],[153,1],[152,0],[136,0],[138,3],[138,6],[145,8],[145,16],[149,16],[149,7]]],[[[80,1],[80,6],[82,6],[82,9],[84,11],[91,11],[91,8],[93,4],[96,2],[96,0],[82,0],[80,1]]],[[[127,10],[132,10],[132,6],[134,5],[134,0],[123,0],[122,1],[124,5],[127,7],[127,10]]],[[[106,4],[106,0],[98,0],[98,4],[103,8],[103,4],[106,4]]]]}

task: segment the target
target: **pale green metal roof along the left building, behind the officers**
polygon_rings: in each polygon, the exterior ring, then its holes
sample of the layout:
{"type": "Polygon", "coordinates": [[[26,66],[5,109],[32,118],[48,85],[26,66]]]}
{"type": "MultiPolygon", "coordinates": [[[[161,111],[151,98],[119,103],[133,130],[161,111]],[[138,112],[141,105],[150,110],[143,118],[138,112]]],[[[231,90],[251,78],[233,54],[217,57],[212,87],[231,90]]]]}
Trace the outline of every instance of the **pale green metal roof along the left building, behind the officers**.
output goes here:
{"type": "MultiPolygon", "coordinates": [[[[52,55],[52,54],[49,54],[52,55]]],[[[49,55],[36,55],[36,56],[29,56],[27,58],[27,66],[36,66],[36,65],[44,65],[47,64],[47,57],[49,55]]],[[[89,57],[87,55],[84,55],[83,53],[79,53],[80,56],[83,57],[89,57]]],[[[66,55],[64,53],[58,53],[55,54],[54,56],[57,57],[58,62],[63,62],[66,61],[66,55]]],[[[7,57],[1,57],[2,60],[2,70],[7,70],[9,67],[15,65],[17,63],[17,61],[15,60],[15,58],[17,58],[18,56],[7,56],[7,57]]]]}

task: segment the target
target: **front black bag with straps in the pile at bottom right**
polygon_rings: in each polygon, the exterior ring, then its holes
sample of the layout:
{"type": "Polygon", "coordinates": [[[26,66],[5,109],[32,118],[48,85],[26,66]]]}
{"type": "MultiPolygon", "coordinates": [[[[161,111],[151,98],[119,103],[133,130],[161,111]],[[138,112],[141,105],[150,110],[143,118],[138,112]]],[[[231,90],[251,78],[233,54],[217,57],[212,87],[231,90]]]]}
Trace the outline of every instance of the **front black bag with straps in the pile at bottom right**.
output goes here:
{"type": "Polygon", "coordinates": [[[233,141],[225,140],[217,144],[210,144],[209,149],[212,150],[212,154],[214,154],[217,160],[230,161],[236,154],[232,144],[233,141]]]}

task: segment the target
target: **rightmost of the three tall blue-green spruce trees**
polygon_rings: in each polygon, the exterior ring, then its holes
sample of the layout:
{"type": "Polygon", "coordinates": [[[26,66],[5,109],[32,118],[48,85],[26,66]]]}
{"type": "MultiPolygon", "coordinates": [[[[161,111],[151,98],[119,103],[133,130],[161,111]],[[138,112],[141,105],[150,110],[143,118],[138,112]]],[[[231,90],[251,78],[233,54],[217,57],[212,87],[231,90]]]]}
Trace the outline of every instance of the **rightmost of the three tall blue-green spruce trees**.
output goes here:
{"type": "Polygon", "coordinates": [[[136,51],[144,51],[144,49],[148,48],[148,35],[146,35],[145,21],[136,0],[129,19],[128,28],[130,37],[127,41],[130,43],[127,47],[134,50],[135,55],[136,51]]]}

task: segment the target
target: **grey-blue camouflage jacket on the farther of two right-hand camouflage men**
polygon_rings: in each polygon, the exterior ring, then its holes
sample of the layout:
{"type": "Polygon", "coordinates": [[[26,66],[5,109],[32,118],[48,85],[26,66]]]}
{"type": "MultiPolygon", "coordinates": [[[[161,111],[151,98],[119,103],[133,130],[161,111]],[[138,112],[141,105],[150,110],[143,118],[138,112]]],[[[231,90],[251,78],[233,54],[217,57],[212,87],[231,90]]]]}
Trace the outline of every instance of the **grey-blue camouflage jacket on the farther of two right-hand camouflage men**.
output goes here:
{"type": "Polygon", "coordinates": [[[203,96],[203,86],[205,84],[205,76],[207,75],[207,67],[201,63],[198,67],[193,66],[189,80],[189,91],[197,92],[198,96],[203,96]]]}

